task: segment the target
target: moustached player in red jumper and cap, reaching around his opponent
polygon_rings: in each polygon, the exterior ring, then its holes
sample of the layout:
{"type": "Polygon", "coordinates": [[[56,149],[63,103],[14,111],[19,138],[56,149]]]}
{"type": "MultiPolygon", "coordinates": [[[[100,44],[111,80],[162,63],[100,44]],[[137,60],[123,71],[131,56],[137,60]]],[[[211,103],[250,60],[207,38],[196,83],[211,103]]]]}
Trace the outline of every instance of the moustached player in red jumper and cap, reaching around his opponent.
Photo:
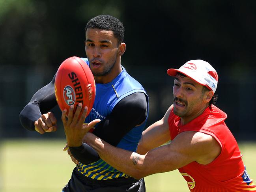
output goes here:
{"type": "Polygon", "coordinates": [[[174,76],[174,103],[143,132],[136,153],[92,133],[85,135],[87,143],[108,164],[135,178],[178,169],[192,192],[256,192],[224,122],[227,115],[213,105],[215,69],[203,60],[191,60],[167,73],[174,76]]]}

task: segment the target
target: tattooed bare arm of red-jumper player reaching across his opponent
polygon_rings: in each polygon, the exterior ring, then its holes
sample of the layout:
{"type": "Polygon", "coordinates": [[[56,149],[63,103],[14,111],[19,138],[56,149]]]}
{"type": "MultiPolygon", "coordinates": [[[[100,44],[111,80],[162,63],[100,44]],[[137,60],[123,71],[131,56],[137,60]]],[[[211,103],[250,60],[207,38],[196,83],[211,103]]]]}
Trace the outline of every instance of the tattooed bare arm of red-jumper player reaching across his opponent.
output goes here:
{"type": "MultiPolygon", "coordinates": [[[[165,126],[157,125],[160,129],[165,126]]],[[[104,161],[137,179],[176,170],[193,161],[208,164],[221,152],[219,143],[212,136],[194,131],[181,132],[170,144],[152,149],[146,155],[114,147],[92,133],[86,134],[86,139],[104,161]]],[[[151,142],[148,139],[144,142],[151,142]]]]}

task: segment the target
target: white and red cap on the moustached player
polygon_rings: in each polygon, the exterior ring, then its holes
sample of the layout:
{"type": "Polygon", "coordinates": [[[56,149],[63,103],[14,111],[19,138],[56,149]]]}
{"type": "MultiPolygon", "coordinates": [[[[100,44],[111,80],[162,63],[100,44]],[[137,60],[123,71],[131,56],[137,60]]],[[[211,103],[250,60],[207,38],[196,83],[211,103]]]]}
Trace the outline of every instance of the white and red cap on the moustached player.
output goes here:
{"type": "Polygon", "coordinates": [[[168,69],[167,74],[176,76],[182,73],[215,93],[218,85],[218,74],[210,63],[203,60],[190,60],[179,69],[168,69]]]}

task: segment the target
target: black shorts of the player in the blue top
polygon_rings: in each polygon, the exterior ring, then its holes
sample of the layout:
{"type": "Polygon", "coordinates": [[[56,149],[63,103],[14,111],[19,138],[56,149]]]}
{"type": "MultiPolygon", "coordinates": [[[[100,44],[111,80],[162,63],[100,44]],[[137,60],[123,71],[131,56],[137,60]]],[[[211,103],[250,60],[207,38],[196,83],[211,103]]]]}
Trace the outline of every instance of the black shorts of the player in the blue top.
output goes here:
{"type": "Polygon", "coordinates": [[[116,178],[108,180],[91,179],[82,175],[77,168],[63,192],[145,192],[144,179],[116,178]]]}

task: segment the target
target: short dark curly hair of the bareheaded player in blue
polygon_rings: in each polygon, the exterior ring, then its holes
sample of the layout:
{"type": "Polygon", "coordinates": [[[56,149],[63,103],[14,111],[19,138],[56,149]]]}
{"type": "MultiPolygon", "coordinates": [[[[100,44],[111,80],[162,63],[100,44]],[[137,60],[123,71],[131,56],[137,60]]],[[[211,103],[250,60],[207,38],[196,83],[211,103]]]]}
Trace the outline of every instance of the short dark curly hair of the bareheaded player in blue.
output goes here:
{"type": "Polygon", "coordinates": [[[119,19],[111,15],[98,15],[93,17],[85,26],[85,32],[88,28],[92,29],[102,29],[107,31],[112,31],[114,37],[117,38],[118,44],[123,42],[124,27],[119,19]]]}

